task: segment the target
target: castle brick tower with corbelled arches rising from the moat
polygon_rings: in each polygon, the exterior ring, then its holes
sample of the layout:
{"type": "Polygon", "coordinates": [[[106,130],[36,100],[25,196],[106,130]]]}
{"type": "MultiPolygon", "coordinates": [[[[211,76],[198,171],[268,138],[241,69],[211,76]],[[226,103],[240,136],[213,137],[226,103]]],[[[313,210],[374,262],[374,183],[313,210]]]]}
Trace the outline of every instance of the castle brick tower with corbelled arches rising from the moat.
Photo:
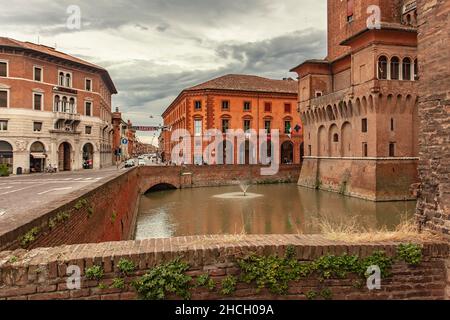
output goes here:
{"type": "Polygon", "coordinates": [[[300,185],[374,201],[413,198],[416,21],[415,1],[328,0],[328,56],[292,69],[305,136],[300,185]],[[373,5],[381,28],[368,23],[373,5]]]}

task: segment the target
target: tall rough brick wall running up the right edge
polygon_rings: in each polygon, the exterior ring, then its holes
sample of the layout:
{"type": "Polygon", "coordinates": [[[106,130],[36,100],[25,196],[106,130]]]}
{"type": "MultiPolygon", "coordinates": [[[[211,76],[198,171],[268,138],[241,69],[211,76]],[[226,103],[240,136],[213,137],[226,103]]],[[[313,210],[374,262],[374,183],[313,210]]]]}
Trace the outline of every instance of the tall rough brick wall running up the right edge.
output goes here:
{"type": "Polygon", "coordinates": [[[417,215],[450,238],[450,2],[419,0],[420,164],[417,215]]]}

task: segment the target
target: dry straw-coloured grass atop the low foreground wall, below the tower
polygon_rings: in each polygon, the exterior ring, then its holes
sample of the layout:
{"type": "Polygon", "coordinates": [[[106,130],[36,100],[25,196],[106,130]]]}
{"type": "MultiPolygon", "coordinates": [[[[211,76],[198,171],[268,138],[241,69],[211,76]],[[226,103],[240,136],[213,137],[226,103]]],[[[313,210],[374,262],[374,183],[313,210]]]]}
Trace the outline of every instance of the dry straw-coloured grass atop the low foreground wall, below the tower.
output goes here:
{"type": "Polygon", "coordinates": [[[419,232],[414,219],[402,219],[394,231],[387,229],[372,230],[361,228],[356,219],[345,223],[331,223],[323,220],[319,222],[321,233],[329,240],[348,243],[360,242],[429,242],[439,241],[441,238],[430,232],[419,232]]]}

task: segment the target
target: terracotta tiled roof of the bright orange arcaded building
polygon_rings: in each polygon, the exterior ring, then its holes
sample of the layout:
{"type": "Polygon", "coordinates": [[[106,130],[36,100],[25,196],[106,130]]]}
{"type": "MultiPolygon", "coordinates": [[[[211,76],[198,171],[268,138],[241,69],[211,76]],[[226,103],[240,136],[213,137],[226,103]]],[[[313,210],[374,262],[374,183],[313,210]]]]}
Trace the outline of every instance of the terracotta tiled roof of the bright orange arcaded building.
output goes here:
{"type": "Polygon", "coordinates": [[[229,74],[188,88],[185,91],[194,90],[234,90],[297,94],[298,83],[293,79],[273,80],[258,76],[229,74]]]}

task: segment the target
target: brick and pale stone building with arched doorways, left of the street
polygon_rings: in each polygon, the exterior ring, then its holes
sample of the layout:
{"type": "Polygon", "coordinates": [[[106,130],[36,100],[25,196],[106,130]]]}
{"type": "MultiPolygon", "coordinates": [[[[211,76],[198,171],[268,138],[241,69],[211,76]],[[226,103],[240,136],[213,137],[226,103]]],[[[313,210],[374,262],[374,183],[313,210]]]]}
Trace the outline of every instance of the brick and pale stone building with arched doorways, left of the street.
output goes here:
{"type": "Polygon", "coordinates": [[[116,93],[99,66],[0,38],[0,163],[12,173],[111,165],[116,93]]]}

